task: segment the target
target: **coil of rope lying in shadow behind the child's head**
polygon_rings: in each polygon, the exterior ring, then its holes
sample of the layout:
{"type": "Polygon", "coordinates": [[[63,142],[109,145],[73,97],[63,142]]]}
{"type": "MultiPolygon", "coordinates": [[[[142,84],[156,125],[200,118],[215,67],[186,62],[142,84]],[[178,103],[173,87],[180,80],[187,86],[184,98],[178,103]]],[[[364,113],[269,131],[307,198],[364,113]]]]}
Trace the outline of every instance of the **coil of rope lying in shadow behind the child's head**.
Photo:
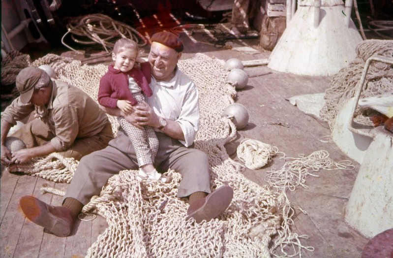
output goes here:
{"type": "MultiPolygon", "coordinates": [[[[67,24],[67,32],[62,36],[61,43],[78,53],[64,43],[67,34],[71,34],[72,40],[83,45],[101,44],[106,52],[113,49],[116,38],[124,37],[134,40],[139,47],[147,44],[147,39],[137,30],[111,17],[103,14],[91,14],[82,17],[73,17],[67,24]]],[[[82,53],[81,53],[82,54],[82,53]]]]}

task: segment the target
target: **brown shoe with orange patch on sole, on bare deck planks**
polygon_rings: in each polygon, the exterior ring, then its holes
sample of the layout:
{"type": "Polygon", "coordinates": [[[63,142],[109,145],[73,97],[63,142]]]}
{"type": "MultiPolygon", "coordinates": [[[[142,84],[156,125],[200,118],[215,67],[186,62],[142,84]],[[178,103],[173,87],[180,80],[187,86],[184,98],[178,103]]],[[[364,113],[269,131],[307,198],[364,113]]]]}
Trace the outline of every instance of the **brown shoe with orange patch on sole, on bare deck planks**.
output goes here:
{"type": "Polygon", "coordinates": [[[69,209],[46,204],[28,195],[19,200],[19,205],[25,216],[38,226],[42,226],[61,237],[71,234],[74,217],[69,209]]]}

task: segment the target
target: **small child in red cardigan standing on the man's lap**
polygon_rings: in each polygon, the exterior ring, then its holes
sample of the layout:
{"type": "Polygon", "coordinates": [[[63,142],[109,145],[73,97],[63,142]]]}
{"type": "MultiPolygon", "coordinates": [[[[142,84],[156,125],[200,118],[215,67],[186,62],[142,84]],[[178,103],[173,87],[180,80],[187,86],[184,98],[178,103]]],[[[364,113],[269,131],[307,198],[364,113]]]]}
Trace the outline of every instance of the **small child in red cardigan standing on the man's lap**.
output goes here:
{"type": "MultiPolygon", "coordinates": [[[[138,45],[135,41],[128,38],[116,41],[112,53],[114,64],[108,66],[107,73],[100,80],[98,90],[100,105],[111,108],[118,107],[123,113],[128,114],[133,111],[132,106],[145,101],[142,92],[147,97],[151,97],[150,65],[142,63],[141,69],[135,67],[138,52],[138,45]]],[[[158,150],[158,139],[153,128],[145,126],[144,129],[139,129],[128,123],[123,117],[119,117],[119,124],[135,148],[139,165],[138,178],[168,182],[169,179],[161,176],[153,166],[158,150]]]]}

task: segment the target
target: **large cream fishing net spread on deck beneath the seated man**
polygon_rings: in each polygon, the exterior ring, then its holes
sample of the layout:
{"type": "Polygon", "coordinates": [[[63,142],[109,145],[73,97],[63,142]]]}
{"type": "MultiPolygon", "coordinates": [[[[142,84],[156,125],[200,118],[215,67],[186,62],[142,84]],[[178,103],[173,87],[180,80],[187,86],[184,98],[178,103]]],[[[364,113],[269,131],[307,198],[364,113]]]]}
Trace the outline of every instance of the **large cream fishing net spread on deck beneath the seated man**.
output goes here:
{"type": "MultiPolygon", "coordinates": [[[[83,89],[94,99],[99,79],[107,70],[106,65],[81,65],[55,55],[31,65],[52,65],[60,80],[83,89]]],[[[195,81],[201,94],[201,127],[195,146],[209,155],[212,190],[231,186],[233,201],[219,218],[195,224],[185,220],[187,201],[176,197],[180,174],[169,170],[173,177],[169,184],[139,183],[135,179],[137,171],[120,171],[100,196],[92,197],[84,207],[84,211],[94,210],[108,222],[108,228],[88,250],[88,257],[270,257],[274,251],[269,250],[269,243],[282,227],[283,199],[268,187],[247,180],[240,173],[242,166],[226,153],[224,144],[236,136],[236,128],[221,116],[233,103],[236,91],[225,83],[223,63],[196,54],[181,60],[179,66],[195,81]]],[[[111,118],[111,122],[116,131],[116,119],[111,118]]],[[[72,159],[51,156],[23,167],[11,166],[10,170],[69,182],[77,164],[72,159]],[[62,162],[68,168],[60,167],[62,162]]],[[[289,228],[284,230],[280,238],[288,235],[289,228]]]]}

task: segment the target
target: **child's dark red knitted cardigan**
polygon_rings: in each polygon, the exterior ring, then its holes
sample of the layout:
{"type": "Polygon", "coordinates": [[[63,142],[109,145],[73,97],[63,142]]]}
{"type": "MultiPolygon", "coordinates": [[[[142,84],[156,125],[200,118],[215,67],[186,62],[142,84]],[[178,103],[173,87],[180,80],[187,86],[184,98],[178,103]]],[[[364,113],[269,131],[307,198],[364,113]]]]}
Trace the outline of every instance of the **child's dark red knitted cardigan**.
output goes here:
{"type": "Polygon", "coordinates": [[[138,101],[132,97],[128,88],[128,76],[131,76],[141,90],[150,97],[152,95],[149,83],[151,81],[151,70],[149,63],[142,63],[141,69],[132,68],[130,71],[123,73],[121,70],[115,69],[113,65],[108,66],[108,71],[100,80],[98,90],[98,103],[105,107],[117,108],[119,99],[128,100],[131,105],[136,105],[138,101]]]}

